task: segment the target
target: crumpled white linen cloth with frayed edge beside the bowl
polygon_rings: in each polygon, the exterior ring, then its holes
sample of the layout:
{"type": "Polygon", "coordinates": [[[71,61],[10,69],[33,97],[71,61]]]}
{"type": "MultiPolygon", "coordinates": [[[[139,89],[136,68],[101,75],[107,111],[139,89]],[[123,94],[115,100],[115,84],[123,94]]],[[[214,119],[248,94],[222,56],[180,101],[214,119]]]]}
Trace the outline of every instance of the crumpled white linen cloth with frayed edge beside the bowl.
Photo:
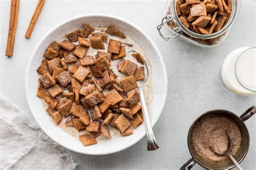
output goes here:
{"type": "Polygon", "coordinates": [[[75,169],[78,165],[39,126],[0,94],[0,169],[75,169]]]}

